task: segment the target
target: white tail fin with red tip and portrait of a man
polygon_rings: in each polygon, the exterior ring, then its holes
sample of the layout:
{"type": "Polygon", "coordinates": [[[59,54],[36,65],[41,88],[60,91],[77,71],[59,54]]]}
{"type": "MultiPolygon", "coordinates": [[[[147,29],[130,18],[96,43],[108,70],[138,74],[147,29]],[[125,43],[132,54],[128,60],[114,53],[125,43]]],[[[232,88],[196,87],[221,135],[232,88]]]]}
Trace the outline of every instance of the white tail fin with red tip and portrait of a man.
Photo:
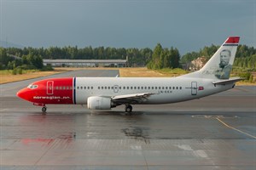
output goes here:
{"type": "Polygon", "coordinates": [[[200,71],[188,74],[187,77],[229,79],[239,39],[240,37],[228,37],[200,71]]]}

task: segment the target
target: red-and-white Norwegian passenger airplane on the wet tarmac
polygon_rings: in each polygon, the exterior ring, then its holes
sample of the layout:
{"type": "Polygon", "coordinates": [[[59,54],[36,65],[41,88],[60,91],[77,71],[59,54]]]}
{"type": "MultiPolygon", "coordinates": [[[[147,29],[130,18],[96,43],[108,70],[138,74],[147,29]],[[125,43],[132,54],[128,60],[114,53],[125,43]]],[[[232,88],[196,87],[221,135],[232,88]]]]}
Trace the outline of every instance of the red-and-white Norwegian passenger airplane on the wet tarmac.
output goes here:
{"type": "Polygon", "coordinates": [[[228,37],[201,70],[180,77],[61,77],[33,82],[17,96],[42,107],[87,105],[90,110],[111,110],[125,105],[170,104],[217,94],[235,87],[231,77],[240,37],[228,37]]]}

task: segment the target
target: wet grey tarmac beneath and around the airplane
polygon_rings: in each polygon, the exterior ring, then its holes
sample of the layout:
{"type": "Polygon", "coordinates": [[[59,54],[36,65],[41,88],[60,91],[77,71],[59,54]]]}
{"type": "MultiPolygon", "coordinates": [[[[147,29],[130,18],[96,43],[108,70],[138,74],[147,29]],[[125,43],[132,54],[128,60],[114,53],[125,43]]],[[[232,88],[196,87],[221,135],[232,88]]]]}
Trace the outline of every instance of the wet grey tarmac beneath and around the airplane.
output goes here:
{"type": "MultiPolygon", "coordinates": [[[[73,71],[51,77],[115,77],[73,71]]],[[[38,78],[42,79],[42,78],[38,78]]],[[[0,169],[256,169],[256,87],[172,105],[89,111],[15,97],[38,79],[1,85],[0,169]]]]}

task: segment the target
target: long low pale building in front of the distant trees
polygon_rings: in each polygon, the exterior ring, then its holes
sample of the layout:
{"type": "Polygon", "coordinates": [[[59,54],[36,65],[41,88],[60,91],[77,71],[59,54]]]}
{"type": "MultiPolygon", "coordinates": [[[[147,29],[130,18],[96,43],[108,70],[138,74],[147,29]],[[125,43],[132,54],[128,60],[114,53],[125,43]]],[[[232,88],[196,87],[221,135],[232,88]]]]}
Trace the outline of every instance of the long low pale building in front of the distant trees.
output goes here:
{"type": "Polygon", "coordinates": [[[127,59],[43,59],[52,67],[126,67],[127,59]]]}

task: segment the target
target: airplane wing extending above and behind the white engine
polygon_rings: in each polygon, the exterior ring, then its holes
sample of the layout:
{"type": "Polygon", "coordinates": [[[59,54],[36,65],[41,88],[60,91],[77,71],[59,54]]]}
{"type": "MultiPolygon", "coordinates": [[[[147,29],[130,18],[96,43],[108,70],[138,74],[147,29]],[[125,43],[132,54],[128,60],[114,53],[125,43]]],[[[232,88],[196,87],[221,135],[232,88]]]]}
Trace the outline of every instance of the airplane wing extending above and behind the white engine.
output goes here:
{"type": "Polygon", "coordinates": [[[143,93],[143,94],[125,94],[125,95],[117,95],[113,96],[111,99],[113,103],[117,105],[123,104],[139,104],[143,103],[143,101],[147,100],[149,96],[153,94],[143,93]]]}

